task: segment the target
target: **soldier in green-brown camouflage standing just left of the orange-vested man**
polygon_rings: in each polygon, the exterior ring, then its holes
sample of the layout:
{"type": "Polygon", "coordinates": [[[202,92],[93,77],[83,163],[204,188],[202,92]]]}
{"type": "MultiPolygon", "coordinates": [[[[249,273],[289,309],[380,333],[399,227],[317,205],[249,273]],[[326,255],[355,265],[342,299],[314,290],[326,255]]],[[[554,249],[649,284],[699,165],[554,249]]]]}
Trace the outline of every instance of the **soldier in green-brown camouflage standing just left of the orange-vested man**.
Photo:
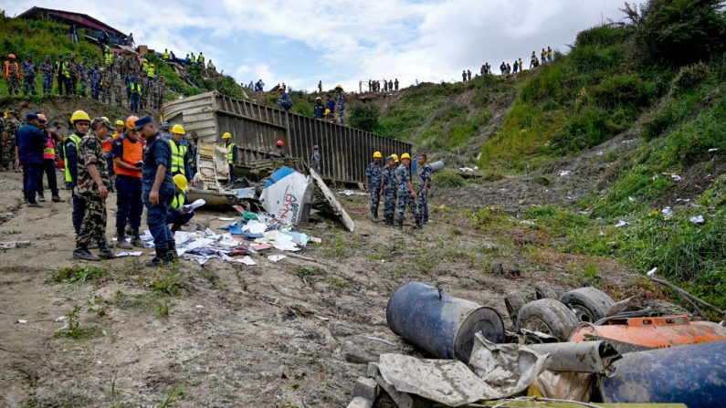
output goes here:
{"type": "Polygon", "coordinates": [[[116,257],[110,251],[106,240],[106,198],[109,196],[110,178],[106,167],[106,153],[100,147],[100,141],[106,139],[113,127],[109,120],[94,118],[90,122],[90,130],[79,145],[79,183],[75,193],[83,200],[86,210],[76,236],[73,257],[98,261],[100,258],[116,257]],[[92,241],[99,244],[99,256],[89,252],[92,241]]]}

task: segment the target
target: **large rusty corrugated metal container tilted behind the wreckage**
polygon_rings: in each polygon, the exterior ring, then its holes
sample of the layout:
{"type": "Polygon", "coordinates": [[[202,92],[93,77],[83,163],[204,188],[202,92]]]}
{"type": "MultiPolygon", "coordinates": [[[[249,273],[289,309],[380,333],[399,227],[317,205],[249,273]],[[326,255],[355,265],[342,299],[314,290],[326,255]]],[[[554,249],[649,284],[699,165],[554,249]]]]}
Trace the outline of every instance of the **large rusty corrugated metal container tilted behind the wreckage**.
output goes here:
{"type": "Polygon", "coordinates": [[[240,149],[242,162],[264,158],[279,140],[285,141],[284,149],[290,156],[308,162],[312,146],[317,144],[321,150],[322,176],[342,182],[363,183],[365,166],[375,151],[386,156],[411,150],[410,143],[232,99],[217,92],[170,102],[163,112],[171,123],[183,120],[184,129],[196,130],[205,141],[221,141],[222,134],[230,132],[240,149]],[[213,125],[216,131],[211,131],[213,125]]]}

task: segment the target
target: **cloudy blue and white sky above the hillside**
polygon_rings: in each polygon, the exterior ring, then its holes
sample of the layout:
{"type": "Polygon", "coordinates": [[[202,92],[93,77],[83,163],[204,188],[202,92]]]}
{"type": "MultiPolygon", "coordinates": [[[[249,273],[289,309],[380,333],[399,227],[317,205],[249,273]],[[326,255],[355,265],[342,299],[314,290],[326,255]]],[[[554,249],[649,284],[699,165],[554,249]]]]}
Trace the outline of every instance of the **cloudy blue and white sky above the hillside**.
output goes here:
{"type": "MultiPolygon", "coordinates": [[[[6,2],[3,2],[6,3],[6,2]]],[[[16,16],[33,5],[85,13],[136,44],[179,58],[204,51],[237,82],[285,82],[293,89],[359,79],[460,80],[489,61],[528,61],[542,47],[566,52],[578,31],[611,18],[622,0],[105,0],[0,5],[16,16]]]]}

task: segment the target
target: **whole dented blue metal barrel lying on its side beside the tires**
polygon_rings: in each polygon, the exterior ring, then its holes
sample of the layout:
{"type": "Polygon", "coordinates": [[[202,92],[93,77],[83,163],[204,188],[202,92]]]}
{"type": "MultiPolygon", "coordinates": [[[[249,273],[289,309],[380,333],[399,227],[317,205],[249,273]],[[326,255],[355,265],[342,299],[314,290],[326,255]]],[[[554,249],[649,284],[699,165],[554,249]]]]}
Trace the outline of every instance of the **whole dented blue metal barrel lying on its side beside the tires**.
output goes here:
{"type": "Polygon", "coordinates": [[[395,334],[439,359],[468,363],[479,331],[490,341],[504,341],[504,323],[496,310],[416,281],[396,289],[385,319],[395,334]]]}

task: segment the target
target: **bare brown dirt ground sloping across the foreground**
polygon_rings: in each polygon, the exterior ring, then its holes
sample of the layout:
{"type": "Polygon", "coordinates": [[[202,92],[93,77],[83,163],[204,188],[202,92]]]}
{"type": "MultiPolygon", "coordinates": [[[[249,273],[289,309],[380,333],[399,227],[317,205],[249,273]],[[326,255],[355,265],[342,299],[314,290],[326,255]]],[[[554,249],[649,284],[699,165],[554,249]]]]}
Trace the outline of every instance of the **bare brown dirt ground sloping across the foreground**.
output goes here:
{"type": "MultiPolygon", "coordinates": [[[[385,322],[387,299],[406,282],[495,308],[508,325],[507,290],[578,284],[566,267],[578,259],[533,261],[436,202],[423,231],[399,232],[369,221],[367,197],[342,195],[356,231],[330,219],[299,228],[322,239],[299,253],[314,261],[255,256],[252,267],[182,260],[153,269],[139,262],[151,257],[146,250],[141,259],[77,262],[70,204],[28,208],[20,186],[19,173],[0,173],[0,241],[30,241],[0,252],[0,406],[345,406],[367,361],[382,352],[420,355],[385,322]],[[496,264],[521,277],[495,275],[496,264]],[[74,265],[103,274],[49,280],[74,265]],[[63,323],[55,321],[74,309],[78,339],[59,335],[63,323]]],[[[114,194],[107,203],[111,237],[114,194]]],[[[233,210],[203,211],[195,222],[217,228],[219,216],[233,210]]],[[[602,266],[604,287],[631,277],[612,261],[602,266]]]]}

